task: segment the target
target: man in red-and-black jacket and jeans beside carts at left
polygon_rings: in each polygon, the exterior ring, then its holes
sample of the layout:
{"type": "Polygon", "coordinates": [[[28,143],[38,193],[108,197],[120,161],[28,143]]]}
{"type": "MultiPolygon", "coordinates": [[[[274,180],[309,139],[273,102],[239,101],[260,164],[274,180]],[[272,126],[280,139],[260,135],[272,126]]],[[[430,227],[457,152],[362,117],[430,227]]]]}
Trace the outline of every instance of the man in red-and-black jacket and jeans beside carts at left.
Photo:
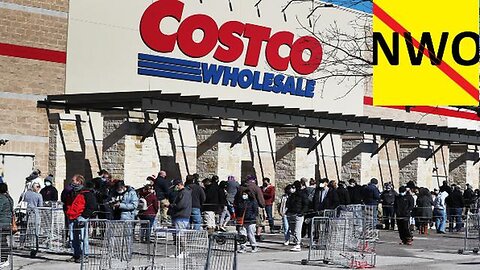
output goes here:
{"type": "Polygon", "coordinates": [[[93,217],[97,207],[95,194],[91,185],[85,183],[82,175],[75,175],[72,178],[72,185],[75,190],[75,199],[72,205],[67,209],[67,217],[70,222],[73,256],[68,262],[81,263],[82,256],[85,262],[88,259],[88,232],[86,231],[86,223],[93,217]]]}

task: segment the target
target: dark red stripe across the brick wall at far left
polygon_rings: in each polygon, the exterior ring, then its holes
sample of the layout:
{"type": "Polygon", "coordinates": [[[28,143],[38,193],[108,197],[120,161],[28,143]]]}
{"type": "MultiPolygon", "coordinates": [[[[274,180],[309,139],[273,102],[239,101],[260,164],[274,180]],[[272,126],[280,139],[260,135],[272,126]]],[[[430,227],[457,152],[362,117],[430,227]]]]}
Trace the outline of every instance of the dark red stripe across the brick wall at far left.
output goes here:
{"type": "Polygon", "coordinates": [[[0,55],[65,64],[67,53],[62,51],[0,43],[0,55]]]}

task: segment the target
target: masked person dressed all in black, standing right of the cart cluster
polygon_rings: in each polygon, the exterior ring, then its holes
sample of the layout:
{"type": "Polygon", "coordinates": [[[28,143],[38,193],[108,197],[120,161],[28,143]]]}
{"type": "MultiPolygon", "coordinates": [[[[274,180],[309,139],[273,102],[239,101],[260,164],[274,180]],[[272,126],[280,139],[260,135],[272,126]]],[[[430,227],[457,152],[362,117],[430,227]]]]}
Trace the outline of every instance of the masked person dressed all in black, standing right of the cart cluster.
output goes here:
{"type": "Polygon", "coordinates": [[[397,216],[398,234],[402,241],[400,244],[411,245],[413,236],[409,228],[409,222],[415,203],[412,195],[407,192],[407,187],[401,186],[398,192],[399,195],[395,197],[394,209],[397,216]]]}

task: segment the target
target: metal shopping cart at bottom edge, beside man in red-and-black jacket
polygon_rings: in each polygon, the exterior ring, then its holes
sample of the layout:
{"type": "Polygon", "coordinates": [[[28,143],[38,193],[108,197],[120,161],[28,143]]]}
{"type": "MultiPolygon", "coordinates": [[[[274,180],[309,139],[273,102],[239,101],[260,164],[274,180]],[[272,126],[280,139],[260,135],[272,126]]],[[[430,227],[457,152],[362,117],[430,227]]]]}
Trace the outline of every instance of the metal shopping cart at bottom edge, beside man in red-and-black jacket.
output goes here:
{"type": "MultiPolygon", "coordinates": [[[[89,220],[82,243],[82,270],[152,269],[154,245],[141,239],[144,220],[89,220]]],[[[79,228],[74,228],[79,230],[79,228]]]]}

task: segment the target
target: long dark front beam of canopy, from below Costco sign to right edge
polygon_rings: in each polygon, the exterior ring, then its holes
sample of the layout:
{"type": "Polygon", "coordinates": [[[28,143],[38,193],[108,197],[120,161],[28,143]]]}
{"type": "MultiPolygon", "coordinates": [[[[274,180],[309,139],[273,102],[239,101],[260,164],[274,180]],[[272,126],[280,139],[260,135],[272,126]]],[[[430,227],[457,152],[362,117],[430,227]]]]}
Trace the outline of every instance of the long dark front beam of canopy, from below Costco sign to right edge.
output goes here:
{"type": "MultiPolygon", "coordinates": [[[[200,100],[201,101],[201,100],[200,100]]],[[[317,116],[299,114],[287,114],[277,112],[255,111],[247,108],[223,107],[218,105],[187,103],[161,99],[145,98],[142,102],[143,110],[163,110],[173,113],[184,113],[188,115],[202,115],[205,117],[218,117],[224,119],[241,119],[242,121],[256,121],[265,124],[278,124],[285,126],[298,126],[312,129],[344,132],[346,130],[376,134],[389,138],[415,138],[421,140],[432,140],[446,143],[465,143],[471,145],[480,144],[480,133],[476,131],[456,132],[453,128],[434,129],[435,126],[428,125],[400,125],[394,121],[386,125],[381,119],[367,119],[361,121],[349,120],[348,118],[329,118],[328,113],[317,113],[317,116]],[[324,117],[321,117],[321,116],[324,117]],[[432,128],[432,129],[430,129],[432,128]]]]}

